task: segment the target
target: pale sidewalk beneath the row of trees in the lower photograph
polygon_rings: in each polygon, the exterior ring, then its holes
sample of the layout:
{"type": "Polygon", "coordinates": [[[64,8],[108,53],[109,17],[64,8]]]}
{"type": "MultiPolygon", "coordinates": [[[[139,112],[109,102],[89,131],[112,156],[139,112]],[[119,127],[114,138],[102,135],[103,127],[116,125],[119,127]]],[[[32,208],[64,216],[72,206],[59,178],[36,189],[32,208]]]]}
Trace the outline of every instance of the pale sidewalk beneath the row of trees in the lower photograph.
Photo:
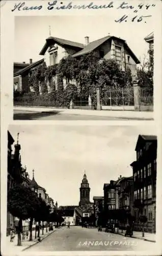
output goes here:
{"type": "MultiPolygon", "coordinates": [[[[47,236],[49,236],[49,234],[51,234],[52,232],[55,232],[57,230],[57,228],[53,228],[52,231],[48,231],[46,232],[46,229],[44,229],[44,234],[42,235],[42,230],[40,230],[40,238],[41,240],[45,239],[47,236]]],[[[30,233],[29,233],[30,236],[30,233]]],[[[10,236],[6,237],[6,243],[4,242],[3,244],[3,255],[4,256],[8,256],[8,255],[16,255],[17,253],[20,253],[22,251],[24,251],[25,249],[28,249],[29,247],[39,243],[38,239],[35,239],[35,230],[32,232],[32,237],[33,237],[33,241],[29,241],[29,237],[28,240],[25,238],[24,242],[22,243],[22,246],[17,246],[17,234],[15,235],[15,239],[14,242],[10,242],[10,236]]],[[[21,234],[21,239],[22,239],[22,234],[21,234]]]]}

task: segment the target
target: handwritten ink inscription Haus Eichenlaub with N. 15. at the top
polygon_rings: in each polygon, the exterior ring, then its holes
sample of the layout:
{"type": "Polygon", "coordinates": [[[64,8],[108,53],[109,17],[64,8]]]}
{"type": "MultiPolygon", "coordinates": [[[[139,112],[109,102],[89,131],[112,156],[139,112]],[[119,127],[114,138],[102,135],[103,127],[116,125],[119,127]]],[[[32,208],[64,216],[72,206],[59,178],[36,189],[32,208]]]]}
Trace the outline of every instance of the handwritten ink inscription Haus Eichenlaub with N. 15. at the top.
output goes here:
{"type": "Polygon", "coordinates": [[[37,6],[27,6],[25,2],[19,2],[14,5],[12,8],[12,12],[14,11],[40,11],[41,9],[46,9],[48,11],[61,11],[61,10],[101,10],[101,9],[117,9],[117,10],[124,10],[126,13],[122,16],[117,17],[114,21],[116,23],[122,23],[122,22],[144,22],[146,23],[146,20],[148,17],[151,17],[152,15],[149,13],[149,11],[154,8],[154,4],[145,3],[145,4],[137,4],[132,5],[128,2],[113,2],[105,3],[105,4],[96,4],[94,2],[90,2],[89,4],[74,4],[73,2],[69,2],[68,4],[64,3],[63,1],[51,1],[47,2],[44,5],[37,5],[37,6]],[[140,11],[140,15],[139,15],[140,11]],[[146,14],[148,12],[148,15],[141,15],[142,11],[146,14]]]}

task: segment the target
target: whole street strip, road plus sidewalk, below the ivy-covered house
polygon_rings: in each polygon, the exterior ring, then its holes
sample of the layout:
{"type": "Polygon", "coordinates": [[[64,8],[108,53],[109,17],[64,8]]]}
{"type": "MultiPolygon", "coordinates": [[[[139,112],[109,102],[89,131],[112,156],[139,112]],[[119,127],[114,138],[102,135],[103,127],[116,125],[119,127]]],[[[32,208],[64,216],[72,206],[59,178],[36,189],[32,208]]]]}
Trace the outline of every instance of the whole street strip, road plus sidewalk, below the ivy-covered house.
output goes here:
{"type": "MultiPolygon", "coordinates": [[[[87,112],[88,113],[88,112],[87,112]]],[[[117,115],[117,112],[112,112],[109,111],[111,114],[105,115],[108,112],[102,112],[101,115],[98,115],[96,112],[96,115],[93,112],[93,115],[88,114],[87,115],[86,111],[82,112],[82,114],[79,114],[77,112],[73,112],[72,114],[69,112],[65,112],[63,110],[53,110],[53,111],[28,111],[28,110],[14,110],[14,115],[13,119],[14,120],[144,120],[145,118],[141,117],[131,117],[130,115],[128,116],[120,116],[119,114],[117,115]],[[103,114],[104,113],[104,114],[103,114]]],[[[125,112],[120,112],[121,114],[125,114],[125,112]]],[[[133,115],[137,114],[133,112],[133,115]]],[[[139,113],[141,114],[141,113],[139,113]]],[[[148,112],[146,112],[148,114],[148,112]]],[[[153,120],[152,118],[146,118],[146,120],[153,120]]]]}

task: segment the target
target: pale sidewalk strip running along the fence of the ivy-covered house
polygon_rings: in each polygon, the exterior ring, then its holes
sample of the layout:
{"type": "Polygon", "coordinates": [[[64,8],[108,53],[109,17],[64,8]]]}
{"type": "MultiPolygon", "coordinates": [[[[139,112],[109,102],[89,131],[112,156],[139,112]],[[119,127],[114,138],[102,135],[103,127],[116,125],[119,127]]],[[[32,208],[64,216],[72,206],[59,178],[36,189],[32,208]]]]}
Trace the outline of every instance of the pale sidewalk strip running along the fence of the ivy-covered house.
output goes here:
{"type": "Polygon", "coordinates": [[[62,114],[86,115],[86,116],[103,116],[121,119],[136,119],[136,120],[153,120],[153,112],[141,111],[119,111],[119,110],[76,110],[76,109],[57,109],[37,106],[14,106],[16,111],[32,111],[32,112],[58,112],[62,114]]]}

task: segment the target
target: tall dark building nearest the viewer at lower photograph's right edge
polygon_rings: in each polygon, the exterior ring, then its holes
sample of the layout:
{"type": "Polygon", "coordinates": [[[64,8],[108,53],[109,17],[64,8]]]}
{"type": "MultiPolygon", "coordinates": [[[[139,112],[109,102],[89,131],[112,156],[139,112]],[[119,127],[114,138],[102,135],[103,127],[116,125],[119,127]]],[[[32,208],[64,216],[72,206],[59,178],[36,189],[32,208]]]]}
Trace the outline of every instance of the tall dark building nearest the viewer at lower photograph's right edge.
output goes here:
{"type": "Polygon", "coordinates": [[[156,156],[157,137],[139,135],[135,151],[136,161],[133,169],[134,228],[141,229],[140,215],[147,217],[145,231],[155,232],[156,228],[156,156]]]}

